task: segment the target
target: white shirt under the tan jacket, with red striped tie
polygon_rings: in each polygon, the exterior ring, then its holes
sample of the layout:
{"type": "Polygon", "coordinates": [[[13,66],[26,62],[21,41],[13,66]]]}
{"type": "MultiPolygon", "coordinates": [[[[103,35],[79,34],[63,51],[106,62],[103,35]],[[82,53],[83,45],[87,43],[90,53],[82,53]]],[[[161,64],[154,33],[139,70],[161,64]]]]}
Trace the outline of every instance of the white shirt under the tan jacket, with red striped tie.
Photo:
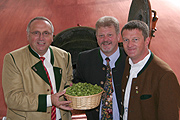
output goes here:
{"type": "MultiPolygon", "coordinates": [[[[51,60],[50,50],[48,49],[47,52],[42,57],[45,57],[44,66],[46,67],[46,69],[47,69],[47,71],[49,73],[49,77],[50,77],[50,80],[51,80],[53,92],[55,94],[55,93],[57,93],[57,91],[56,91],[54,70],[53,70],[53,66],[52,66],[52,64],[50,62],[50,60],[51,60]]],[[[51,107],[51,106],[52,106],[51,95],[47,95],[47,107],[51,107]]],[[[59,110],[59,108],[56,108],[56,120],[59,120],[60,118],[61,118],[60,110],[59,110]]]]}

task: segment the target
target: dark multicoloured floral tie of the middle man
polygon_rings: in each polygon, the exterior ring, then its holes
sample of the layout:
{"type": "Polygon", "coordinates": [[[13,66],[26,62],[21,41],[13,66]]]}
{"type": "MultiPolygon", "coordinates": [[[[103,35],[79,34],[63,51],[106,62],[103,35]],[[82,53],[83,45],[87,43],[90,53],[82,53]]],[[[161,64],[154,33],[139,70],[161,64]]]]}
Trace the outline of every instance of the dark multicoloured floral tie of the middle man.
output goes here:
{"type": "Polygon", "coordinates": [[[113,120],[113,114],[112,114],[113,87],[112,87],[112,73],[109,66],[109,61],[110,59],[106,58],[107,73],[106,73],[106,82],[104,84],[104,93],[102,95],[101,120],[113,120]]]}

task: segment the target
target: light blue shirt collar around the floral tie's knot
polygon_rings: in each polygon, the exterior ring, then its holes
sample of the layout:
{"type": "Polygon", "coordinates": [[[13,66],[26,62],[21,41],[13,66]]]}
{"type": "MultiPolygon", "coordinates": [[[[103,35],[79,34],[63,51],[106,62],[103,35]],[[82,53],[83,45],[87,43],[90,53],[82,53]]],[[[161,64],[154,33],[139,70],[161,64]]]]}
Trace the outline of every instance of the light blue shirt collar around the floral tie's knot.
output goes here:
{"type": "MultiPolygon", "coordinates": [[[[103,64],[106,65],[106,58],[107,56],[100,50],[100,54],[103,58],[103,64]]],[[[119,58],[120,56],[120,51],[119,51],[119,47],[118,49],[116,50],[115,53],[113,53],[111,56],[109,56],[109,59],[110,59],[110,62],[109,62],[109,65],[111,68],[114,68],[115,67],[115,62],[117,61],[117,59],[119,58]]]]}

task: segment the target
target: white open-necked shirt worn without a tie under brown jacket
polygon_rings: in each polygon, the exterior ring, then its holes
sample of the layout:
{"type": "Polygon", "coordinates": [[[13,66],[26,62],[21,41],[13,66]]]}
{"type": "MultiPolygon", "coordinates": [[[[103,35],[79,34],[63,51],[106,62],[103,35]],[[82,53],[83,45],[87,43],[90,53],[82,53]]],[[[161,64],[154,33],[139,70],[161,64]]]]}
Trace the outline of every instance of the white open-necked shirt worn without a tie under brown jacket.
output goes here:
{"type": "Polygon", "coordinates": [[[129,79],[128,79],[128,82],[126,85],[126,90],[125,90],[125,95],[124,95],[123,120],[128,120],[128,106],[129,106],[129,98],[130,98],[132,80],[133,80],[133,78],[137,78],[137,74],[140,72],[140,70],[147,63],[150,55],[151,55],[151,52],[149,50],[149,54],[143,60],[139,61],[136,64],[133,64],[132,60],[129,58],[129,64],[131,65],[131,69],[130,69],[130,75],[129,75],[129,79]]]}

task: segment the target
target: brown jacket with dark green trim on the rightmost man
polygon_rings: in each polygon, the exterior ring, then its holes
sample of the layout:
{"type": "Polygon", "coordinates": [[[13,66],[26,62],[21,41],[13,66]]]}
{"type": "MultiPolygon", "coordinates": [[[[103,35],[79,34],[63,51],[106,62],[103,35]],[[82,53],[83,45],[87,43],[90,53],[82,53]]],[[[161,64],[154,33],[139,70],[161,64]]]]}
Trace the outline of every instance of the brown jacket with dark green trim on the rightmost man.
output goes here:
{"type": "MultiPolygon", "coordinates": [[[[123,102],[130,71],[128,60],[122,78],[123,102]]],[[[172,69],[152,53],[137,78],[133,78],[128,120],[179,120],[179,91],[179,83],[172,69]]]]}

